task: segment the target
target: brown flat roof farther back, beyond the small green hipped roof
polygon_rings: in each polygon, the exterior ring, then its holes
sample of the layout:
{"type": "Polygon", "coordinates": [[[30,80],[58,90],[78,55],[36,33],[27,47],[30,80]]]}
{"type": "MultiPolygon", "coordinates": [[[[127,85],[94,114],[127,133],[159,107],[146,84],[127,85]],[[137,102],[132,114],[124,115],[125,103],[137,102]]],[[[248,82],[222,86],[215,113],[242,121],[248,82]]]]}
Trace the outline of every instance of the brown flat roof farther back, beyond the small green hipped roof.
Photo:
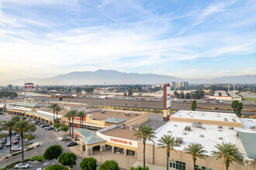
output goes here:
{"type": "Polygon", "coordinates": [[[107,111],[107,110],[104,114],[100,113],[100,111],[97,110],[97,111],[88,113],[88,115],[95,117],[95,120],[99,120],[99,121],[106,120],[109,117],[122,118],[122,119],[126,119],[126,120],[130,120],[130,119],[137,117],[137,115],[135,115],[135,114],[130,114],[130,116],[126,116],[125,113],[119,113],[117,111],[107,111]]]}

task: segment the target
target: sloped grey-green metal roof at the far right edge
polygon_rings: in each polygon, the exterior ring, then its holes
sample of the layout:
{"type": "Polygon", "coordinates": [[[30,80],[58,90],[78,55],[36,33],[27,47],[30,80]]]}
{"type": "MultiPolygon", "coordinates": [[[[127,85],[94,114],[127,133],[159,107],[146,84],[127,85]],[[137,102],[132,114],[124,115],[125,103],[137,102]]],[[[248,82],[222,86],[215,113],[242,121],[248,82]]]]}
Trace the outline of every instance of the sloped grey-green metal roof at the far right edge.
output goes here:
{"type": "Polygon", "coordinates": [[[237,131],[248,158],[256,159],[256,133],[237,131]]]}

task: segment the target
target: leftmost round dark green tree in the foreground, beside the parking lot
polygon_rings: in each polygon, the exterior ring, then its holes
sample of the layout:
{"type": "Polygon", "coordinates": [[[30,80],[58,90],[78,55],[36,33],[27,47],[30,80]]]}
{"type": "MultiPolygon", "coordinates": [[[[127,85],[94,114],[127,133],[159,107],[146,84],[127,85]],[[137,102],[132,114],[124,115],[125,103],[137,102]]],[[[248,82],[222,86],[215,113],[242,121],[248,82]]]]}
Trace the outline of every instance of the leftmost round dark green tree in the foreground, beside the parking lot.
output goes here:
{"type": "Polygon", "coordinates": [[[59,158],[63,149],[61,145],[51,145],[47,150],[43,153],[43,157],[47,160],[54,160],[59,158]]]}

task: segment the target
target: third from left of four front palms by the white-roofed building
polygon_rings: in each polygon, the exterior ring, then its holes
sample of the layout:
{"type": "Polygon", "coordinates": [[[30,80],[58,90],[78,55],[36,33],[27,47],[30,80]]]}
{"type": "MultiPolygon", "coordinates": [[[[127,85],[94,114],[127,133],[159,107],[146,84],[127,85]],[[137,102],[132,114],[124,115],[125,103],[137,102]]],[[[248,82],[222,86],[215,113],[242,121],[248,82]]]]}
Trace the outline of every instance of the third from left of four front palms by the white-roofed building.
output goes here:
{"type": "Polygon", "coordinates": [[[197,143],[190,143],[187,147],[184,148],[184,151],[186,154],[190,154],[192,156],[193,162],[194,162],[194,169],[195,169],[195,161],[196,158],[202,158],[205,159],[208,156],[205,155],[206,150],[203,150],[202,145],[197,143]]]}

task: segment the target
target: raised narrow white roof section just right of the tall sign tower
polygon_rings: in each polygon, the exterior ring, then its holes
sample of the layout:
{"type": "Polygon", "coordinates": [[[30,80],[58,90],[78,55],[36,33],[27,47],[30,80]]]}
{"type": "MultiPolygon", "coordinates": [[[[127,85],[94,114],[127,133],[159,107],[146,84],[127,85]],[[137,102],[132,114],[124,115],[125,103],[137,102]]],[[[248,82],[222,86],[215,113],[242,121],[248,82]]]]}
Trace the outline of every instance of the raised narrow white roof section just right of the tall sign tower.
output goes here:
{"type": "Polygon", "coordinates": [[[227,113],[218,113],[218,112],[179,110],[175,114],[172,114],[171,117],[183,117],[183,118],[189,118],[189,119],[241,123],[236,114],[227,114],[227,113]]]}

